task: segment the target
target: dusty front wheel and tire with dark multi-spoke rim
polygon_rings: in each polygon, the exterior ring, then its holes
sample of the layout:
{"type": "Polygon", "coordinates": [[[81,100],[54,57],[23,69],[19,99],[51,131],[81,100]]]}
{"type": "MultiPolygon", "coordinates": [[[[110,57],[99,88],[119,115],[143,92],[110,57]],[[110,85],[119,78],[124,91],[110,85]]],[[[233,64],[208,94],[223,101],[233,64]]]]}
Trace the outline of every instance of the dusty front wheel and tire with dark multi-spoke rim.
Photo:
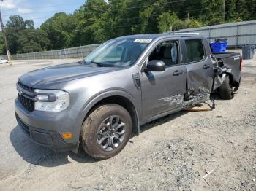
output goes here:
{"type": "Polygon", "coordinates": [[[99,106],[83,122],[82,147],[91,157],[108,159],[124,149],[131,133],[132,118],[124,107],[117,104],[99,106]]]}

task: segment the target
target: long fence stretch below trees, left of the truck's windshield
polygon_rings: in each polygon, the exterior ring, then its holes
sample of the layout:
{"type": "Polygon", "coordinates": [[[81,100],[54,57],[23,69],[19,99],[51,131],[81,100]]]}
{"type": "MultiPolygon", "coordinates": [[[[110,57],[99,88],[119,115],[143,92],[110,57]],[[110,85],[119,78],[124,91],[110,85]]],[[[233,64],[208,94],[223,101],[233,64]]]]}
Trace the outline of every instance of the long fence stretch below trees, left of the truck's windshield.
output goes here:
{"type": "Polygon", "coordinates": [[[100,44],[91,44],[80,47],[72,47],[61,50],[50,50],[45,52],[31,52],[12,55],[13,60],[35,60],[35,59],[63,59],[63,58],[84,58],[100,44]]]}

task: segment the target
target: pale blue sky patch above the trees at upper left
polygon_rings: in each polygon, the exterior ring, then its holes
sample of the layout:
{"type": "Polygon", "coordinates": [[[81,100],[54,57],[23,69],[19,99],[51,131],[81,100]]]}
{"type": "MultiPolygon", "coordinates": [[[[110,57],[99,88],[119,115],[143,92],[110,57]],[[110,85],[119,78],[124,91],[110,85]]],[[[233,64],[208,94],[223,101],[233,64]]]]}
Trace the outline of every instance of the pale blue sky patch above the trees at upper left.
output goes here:
{"type": "Polygon", "coordinates": [[[4,0],[1,4],[1,15],[4,24],[10,15],[20,15],[24,20],[34,20],[35,28],[39,27],[56,12],[72,13],[86,0],[4,0]]]}

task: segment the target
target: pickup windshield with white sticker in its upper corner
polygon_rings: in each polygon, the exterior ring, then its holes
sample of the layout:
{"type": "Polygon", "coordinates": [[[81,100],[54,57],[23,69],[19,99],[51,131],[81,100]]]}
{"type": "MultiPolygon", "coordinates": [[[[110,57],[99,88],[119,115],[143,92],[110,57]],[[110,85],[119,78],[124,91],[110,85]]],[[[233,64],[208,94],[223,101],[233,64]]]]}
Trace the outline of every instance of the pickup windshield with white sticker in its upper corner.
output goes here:
{"type": "Polygon", "coordinates": [[[151,39],[113,39],[91,52],[85,63],[103,67],[132,66],[150,42],[151,39]]]}

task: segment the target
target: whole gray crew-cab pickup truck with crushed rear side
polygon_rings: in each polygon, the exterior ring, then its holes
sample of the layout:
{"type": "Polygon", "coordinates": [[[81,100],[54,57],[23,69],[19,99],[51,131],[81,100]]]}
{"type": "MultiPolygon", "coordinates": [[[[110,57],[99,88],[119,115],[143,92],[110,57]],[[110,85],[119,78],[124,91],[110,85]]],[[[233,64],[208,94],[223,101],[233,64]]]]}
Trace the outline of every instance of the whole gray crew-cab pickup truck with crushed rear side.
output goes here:
{"type": "Polygon", "coordinates": [[[15,115],[31,140],[55,151],[117,155],[132,132],[187,109],[215,92],[233,98],[241,55],[212,53],[192,34],[146,34],[111,39],[79,63],[19,77],[15,115]]]}

